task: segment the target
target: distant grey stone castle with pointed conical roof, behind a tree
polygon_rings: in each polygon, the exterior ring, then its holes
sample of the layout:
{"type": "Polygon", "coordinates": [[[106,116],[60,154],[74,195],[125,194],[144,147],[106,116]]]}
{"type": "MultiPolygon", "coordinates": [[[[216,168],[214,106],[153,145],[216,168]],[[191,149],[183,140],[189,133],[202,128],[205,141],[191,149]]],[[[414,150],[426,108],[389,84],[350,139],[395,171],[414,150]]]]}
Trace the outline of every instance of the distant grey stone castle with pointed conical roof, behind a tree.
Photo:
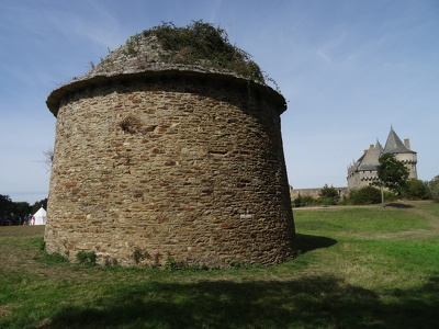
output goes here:
{"type": "Polygon", "coordinates": [[[396,159],[408,169],[408,178],[417,179],[417,156],[410,149],[409,139],[404,139],[403,143],[391,127],[384,148],[376,140],[376,145],[370,145],[369,149],[364,150],[364,154],[348,167],[348,189],[361,189],[375,182],[378,180],[376,166],[379,159],[385,154],[394,154],[396,159]]]}

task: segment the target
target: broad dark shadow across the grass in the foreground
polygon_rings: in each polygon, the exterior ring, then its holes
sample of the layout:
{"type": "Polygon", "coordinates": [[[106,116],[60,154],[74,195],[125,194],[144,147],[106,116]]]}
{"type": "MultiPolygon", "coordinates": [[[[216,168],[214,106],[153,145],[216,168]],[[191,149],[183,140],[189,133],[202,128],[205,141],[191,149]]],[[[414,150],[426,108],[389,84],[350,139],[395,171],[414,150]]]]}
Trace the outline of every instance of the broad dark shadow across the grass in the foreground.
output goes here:
{"type": "Polygon", "coordinates": [[[439,328],[439,279],[376,293],[333,276],[291,282],[114,284],[40,328],[439,328]]]}

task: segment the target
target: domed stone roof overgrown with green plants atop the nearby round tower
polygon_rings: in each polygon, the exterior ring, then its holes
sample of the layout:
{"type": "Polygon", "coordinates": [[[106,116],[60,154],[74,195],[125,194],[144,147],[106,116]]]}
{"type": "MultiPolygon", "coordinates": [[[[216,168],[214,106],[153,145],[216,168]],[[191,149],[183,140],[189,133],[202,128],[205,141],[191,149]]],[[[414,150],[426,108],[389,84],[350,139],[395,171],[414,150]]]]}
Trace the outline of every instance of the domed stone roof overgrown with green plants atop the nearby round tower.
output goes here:
{"type": "Polygon", "coordinates": [[[223,30],[203,22],[194,22],[188,27],[176,27],[164,23],[161,26],[144,31],[111,52],[100,64],[92,65],[91,70],[85,76],[76,77],[54,90],[47,98],[47,106],[56,116],[59,103],[65,97],[90,86],[122,79],[185,75],[209,76],[230,83],[241,83],[237,82],[238,80],[246,81],[245,83],[251,83],[252,88],[262,91],[279,104],[280,113],[285,111],[285,99],[264,83],[263,75],[257,64],[249,60],[247,53],[230,45],[224,34],[223,30]],[[175,33],[171,34],[173,37],[171,41],[169,35],[166,36],[166,32],[169,31],[175,33]],[[196,37],[202,42],[198,43],[196,37]]]}

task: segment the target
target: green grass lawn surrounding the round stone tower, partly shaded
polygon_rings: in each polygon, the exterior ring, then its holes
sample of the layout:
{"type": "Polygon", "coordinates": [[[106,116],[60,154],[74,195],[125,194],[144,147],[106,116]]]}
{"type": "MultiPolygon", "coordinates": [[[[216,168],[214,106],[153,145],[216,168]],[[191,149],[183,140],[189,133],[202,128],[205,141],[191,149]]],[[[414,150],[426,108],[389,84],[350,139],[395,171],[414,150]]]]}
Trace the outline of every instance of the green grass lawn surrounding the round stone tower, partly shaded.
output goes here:
{"type": "Polygon", "coordinates": [[[294,220],[295,260],[211,271],[71,264],[0,227],[0,328],[439,328],[439,204],[294,220]]]}

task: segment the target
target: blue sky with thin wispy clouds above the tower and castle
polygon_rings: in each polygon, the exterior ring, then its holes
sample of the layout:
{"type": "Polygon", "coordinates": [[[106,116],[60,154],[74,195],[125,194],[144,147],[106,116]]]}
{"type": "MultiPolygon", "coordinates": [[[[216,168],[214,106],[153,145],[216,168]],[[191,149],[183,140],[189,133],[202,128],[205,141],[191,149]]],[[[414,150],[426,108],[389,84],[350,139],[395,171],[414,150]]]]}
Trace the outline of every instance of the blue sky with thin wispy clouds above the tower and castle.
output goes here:
{"type": "Polygon", "coordinates": [[[0,194],[47,197],[52,90],[135,33],[194,20],[227,31],[288,100],[290,184],[346,186],[347,167],[391,125],[439,174],[437,0],[0,0],[0,194]]]}

